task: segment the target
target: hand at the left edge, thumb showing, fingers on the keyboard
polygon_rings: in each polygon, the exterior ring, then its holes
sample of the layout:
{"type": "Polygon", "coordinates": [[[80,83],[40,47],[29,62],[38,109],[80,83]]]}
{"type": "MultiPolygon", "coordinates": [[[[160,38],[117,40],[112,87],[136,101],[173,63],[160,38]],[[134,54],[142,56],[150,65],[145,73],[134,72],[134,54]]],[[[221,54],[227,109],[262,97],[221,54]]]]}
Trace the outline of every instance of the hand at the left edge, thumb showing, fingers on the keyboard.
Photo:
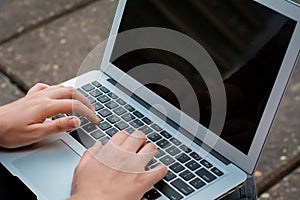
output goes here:
{"type": "Polygon", "coordinates": [[[27,95],[0,107],[0,146],[15,148],[29,145],[54,134],[80,125],[75,116],[50,122],[47,118],[59,113],[76,112],[99,123],[92,105],[72,87],[36,84],[27,95]]]}

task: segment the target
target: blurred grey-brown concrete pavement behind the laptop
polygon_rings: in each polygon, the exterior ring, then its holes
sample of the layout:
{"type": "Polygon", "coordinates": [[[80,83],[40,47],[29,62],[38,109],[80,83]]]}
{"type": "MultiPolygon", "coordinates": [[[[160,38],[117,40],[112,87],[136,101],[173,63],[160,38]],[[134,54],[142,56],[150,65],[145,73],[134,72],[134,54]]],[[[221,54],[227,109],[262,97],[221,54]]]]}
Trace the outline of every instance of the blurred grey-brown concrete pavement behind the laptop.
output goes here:
{"type": "MultiPolygon", "coordinates": [[[[76,76],[106,38],[116,3],[0,0],[0,105],[21,98],[37,82],[59,84],[76,76]]],[[[254,174],[261,200],[300,197],[299,105],[300,62],[254,174]]]]}

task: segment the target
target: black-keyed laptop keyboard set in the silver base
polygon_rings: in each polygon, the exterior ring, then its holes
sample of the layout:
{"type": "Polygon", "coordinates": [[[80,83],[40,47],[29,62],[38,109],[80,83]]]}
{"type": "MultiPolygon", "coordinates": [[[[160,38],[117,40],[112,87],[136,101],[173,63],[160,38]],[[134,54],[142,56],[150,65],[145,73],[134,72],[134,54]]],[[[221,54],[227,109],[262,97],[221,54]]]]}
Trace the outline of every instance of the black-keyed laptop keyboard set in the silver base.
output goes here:
{"type": "MultiPolygon", "coordinates": [[[[224,175],[220,169],[99,82],[86,84],[78,88],[78,91],[89,99],[101,119],[101,123],[95,125],[76,113],[69,114],[77,115],[81,120],[81,127],[69,134],[83,146],[90,148],[96,140],[105,144],[119,130],[126,130],[128,133],[140,130],[146,134],[148,141],[157,145],[158,152],[146,168],[151,169],[158,163],[163,163],[169,170],[164,179],[144,195],[145,199],[157,199],[162,194],[171,200],[183,199],[224,175]]],[[[57,115],[53,119],[62,116],[64,115],[57,115]]]]}

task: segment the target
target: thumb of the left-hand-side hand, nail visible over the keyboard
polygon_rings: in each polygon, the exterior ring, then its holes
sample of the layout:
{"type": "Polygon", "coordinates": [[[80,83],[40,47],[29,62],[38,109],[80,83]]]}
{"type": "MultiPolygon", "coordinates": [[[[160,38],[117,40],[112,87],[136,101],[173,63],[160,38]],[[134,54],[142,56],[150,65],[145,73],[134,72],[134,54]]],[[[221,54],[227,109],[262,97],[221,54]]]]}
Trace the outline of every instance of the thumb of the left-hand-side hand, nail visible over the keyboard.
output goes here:
{"type": "Polygon", "coordinates": [[[78,128],[80,120],[76,116],[69,116],[43,123],[41,126],[44,135],[51,135],[78,128]]]}

